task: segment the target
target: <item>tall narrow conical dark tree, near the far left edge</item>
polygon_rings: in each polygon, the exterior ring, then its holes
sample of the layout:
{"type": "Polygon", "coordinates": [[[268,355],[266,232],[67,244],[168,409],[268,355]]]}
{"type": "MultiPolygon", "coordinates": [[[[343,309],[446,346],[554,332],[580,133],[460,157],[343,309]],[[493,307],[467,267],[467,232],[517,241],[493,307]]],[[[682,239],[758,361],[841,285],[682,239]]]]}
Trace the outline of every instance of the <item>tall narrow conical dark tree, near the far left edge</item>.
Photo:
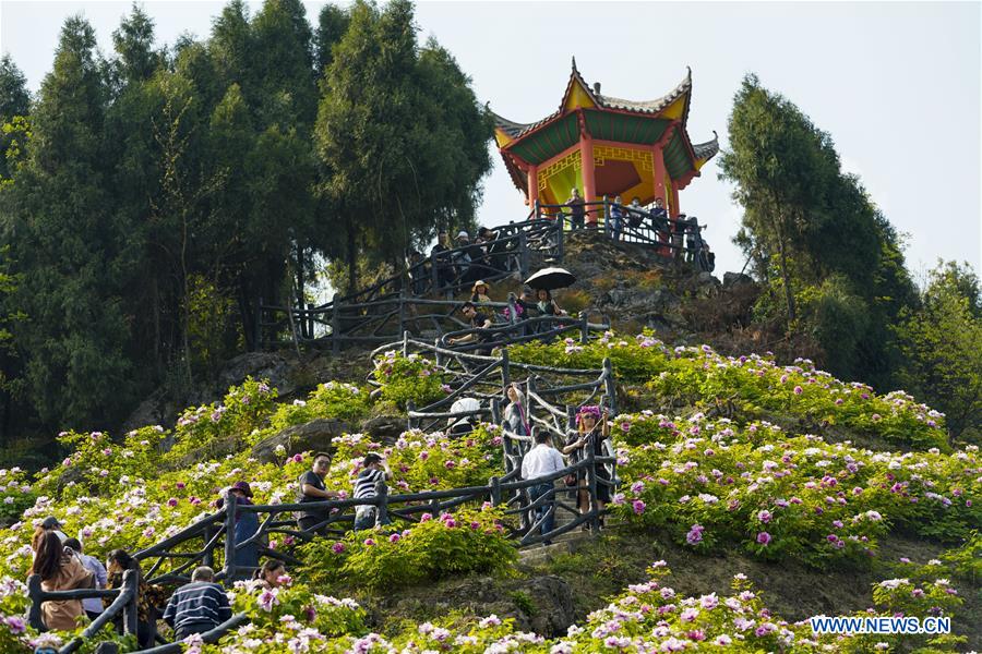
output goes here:
{"type": "Polygon", "coordinates": [[[101,133],[107,89],[92,26],[65,21],[13,185],[10,229],[29,316],[15,329],[32,401],[49,424],[106,425],[130,398],[128,316],[117,279],[125,238],[111,220],[101,133]]]}

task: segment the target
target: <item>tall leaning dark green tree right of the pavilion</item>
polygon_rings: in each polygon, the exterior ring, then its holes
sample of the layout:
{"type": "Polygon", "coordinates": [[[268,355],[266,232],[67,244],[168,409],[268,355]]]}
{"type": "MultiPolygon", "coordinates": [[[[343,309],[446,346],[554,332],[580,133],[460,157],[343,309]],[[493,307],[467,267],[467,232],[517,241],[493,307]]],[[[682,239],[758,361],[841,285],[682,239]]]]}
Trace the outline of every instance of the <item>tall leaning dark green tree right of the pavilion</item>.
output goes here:
{"type": "Polygon", "coordinates": [[[744,208],[735,241],[769,287],[758,315],[814,334],[833,373],[893,384],[889,325],[914,301],[896,232],[841,171],[830,135],[754,75],[729,131],[720,166],[744,208]]]}

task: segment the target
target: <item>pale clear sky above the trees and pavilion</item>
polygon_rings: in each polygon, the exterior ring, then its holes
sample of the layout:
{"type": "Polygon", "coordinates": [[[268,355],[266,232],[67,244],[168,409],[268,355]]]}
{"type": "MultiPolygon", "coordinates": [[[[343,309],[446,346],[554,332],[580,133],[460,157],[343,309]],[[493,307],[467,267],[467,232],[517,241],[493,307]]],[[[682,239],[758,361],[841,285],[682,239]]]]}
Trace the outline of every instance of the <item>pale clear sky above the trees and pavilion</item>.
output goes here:
{"type": "MultiPolygon", "coordinates": [[[[312,24],[323,2],[306,2],[312,24]]],[[[160,43],[207,37],[223,2],[147,1],[160,43]]],[[[251,3],[256,11],[260,2],[251,3]]],[[[50,70],[64,19],[81,12],[103,50],[129,12],[119,1],[0,0],[0,50],[36,90],[50,70]]],[[[419,2],[420,41],[435,36],[474,80],[480,101],[516,122],[554,111],[570,61],[604,95],[647,100],[693,71],[688,132],[727,147],[727,116],[747,72],[829,132],[900,232],[917,280],[938,257],[982,275],[982,3],[980,2],[419,2]]],[[[527,211],[496,150],[484,182],[482,225],[527,211]]],[[[717,275],[740,270],[730,243],[740,208],[715,160],[681,193],[709,225],[717,275]]]]}

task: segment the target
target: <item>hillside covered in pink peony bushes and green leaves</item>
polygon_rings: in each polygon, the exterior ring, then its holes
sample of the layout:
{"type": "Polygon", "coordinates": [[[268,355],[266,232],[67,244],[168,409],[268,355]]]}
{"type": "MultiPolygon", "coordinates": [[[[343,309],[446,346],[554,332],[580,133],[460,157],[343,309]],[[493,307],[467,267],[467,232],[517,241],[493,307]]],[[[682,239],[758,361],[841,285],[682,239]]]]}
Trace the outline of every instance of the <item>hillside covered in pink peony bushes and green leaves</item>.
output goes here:
{"type": "MultiPolygon", "coordinates": [[[[270,546],[303,561],[290,567],[292,585],[272,595],[237,589],[233,604],[252,626],[203,651],[633,652],[711,643],[860,652],[982,643],[978,448],[950,447],[943,415],[807,361],[728,358],[646,334],[511,348],[516,364],[596,368],[604,358],[622,409],[612,420],[621,484],[600,537],[571,541],[552,556],[523,553],[519,562],[498,526],[505,516],[477,505],[403,531],[299,548],[286,537],[270,546]],[[799,622],[867,608],[950,616],[957,635],[839,640],[799,622]]],[[[104,558],[202,519],[236,480],[252,484],[256,504],[291,501],[310,450],[334,452],[325,485],[347,493],[357,461],[373,450],[390,459],[394,493],[484,485],[500,474],[494,425],[456,439],[397,434],[399,405],[445,390],[432,362],[387,360],[374,397],[362,377],[277,403],[275,388],[250,379],[166,428],[118,439],[62,434],[73,453],[36,479],[4,471],[0,507],[14,521],[0,532],[4,652],[38,640],[16,616],[26,608],[21,581],[34,524],[48,514],[104,558]]]]}

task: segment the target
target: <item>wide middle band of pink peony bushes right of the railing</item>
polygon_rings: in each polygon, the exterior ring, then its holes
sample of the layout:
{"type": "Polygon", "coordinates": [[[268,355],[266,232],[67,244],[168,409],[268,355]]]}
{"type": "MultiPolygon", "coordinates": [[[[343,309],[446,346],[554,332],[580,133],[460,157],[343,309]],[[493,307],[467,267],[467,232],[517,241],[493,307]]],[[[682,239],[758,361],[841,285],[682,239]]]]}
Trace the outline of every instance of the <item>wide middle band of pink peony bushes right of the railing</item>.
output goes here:
{"type": "Polygon", "coordinates": [[[741,544],[764,559],[825,566],[866,558],[891,523],[950,542],[982,522],[966,499],[978,493],[977,448],[890,456],[702,414],[616,423],[623,493],[614,512],[668,528],[695,549],[741,544]]]}

